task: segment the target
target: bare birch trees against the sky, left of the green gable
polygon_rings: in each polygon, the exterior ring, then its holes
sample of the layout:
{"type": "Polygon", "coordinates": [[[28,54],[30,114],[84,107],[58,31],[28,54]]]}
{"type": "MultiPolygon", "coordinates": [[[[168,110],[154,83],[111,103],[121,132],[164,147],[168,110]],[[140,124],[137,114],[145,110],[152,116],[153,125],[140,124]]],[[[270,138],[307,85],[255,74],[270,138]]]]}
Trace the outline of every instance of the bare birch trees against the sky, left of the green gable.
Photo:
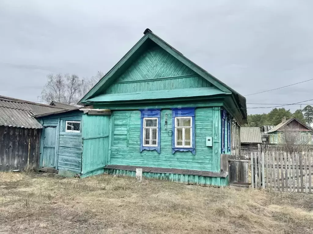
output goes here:
{"type": "Polygon", "coordinates": [[[75,74],[49,74],[39,98],[44,102],[58,101],[66,104],[76,104],[102,77],[98,71],[96,76],[81,80],[75,74]]]}

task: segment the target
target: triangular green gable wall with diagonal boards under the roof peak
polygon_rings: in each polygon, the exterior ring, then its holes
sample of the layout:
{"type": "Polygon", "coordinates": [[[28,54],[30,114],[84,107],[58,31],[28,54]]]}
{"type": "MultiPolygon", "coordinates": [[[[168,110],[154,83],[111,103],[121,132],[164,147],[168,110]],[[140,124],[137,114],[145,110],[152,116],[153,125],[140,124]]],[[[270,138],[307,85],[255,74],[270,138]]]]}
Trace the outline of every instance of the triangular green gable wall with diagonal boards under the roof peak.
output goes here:
{"type": "Polygon", "coordinates": [[[211,87],[159,46],[151,46],[105,90],[105,94],[211,87]]]}

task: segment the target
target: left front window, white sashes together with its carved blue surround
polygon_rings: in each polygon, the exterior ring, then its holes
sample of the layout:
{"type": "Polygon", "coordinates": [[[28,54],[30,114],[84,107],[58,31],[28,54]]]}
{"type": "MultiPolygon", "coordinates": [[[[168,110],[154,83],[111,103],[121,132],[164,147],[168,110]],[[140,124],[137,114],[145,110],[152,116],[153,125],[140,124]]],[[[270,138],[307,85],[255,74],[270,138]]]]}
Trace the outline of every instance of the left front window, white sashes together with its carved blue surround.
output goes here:
{"type": "Polygon", "coordinates": [[[140,152],[156,150],[160,154],[161,109],[140,110],[140,152]]]}

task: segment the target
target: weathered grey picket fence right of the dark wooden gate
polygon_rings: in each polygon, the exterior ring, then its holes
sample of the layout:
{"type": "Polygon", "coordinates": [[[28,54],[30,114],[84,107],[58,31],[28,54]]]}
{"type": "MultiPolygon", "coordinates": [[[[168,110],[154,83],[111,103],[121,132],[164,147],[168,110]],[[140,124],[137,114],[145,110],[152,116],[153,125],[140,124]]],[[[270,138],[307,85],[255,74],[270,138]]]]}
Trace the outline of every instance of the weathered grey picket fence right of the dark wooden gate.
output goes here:
{"type": "Polygon", "coordinates": [[[251,153],[251,188],[312,193],[313,154],[251,153]]]}

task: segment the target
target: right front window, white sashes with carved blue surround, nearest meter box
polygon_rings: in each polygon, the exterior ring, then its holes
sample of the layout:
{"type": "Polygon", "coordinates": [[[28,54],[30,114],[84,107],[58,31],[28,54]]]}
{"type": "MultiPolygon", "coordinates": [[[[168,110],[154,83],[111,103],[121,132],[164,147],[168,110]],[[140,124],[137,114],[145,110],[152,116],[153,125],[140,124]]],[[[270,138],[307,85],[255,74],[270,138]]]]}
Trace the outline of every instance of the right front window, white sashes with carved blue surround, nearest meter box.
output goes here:
{"type": "Polygon", "coordinates": [[[172,153],[195,149],[195,108],[172,109],[172,153]]]}

